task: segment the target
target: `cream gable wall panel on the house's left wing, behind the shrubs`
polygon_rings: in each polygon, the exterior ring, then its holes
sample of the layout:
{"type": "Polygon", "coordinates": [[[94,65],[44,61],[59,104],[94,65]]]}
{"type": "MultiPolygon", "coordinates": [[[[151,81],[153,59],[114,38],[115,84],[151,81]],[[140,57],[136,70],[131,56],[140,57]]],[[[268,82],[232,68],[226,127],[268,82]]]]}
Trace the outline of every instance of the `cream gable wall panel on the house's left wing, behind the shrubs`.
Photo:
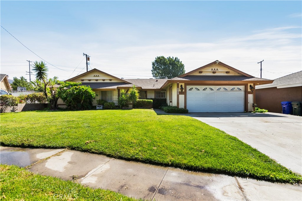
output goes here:
{"type": "Polygon", "coordinates": [[[85,75],[78,77],[71,81],[72,82],[122,82],[121,80],[118,80],[114,77],[100,73],[98,71],[94,71],[94,72],[85,74],[85,75]],[[103,79],[104,79],[104,81],[103,81],[103,79]],[[109,79],[111,79],[111,81],[109,79]],[[90,80],[90,81],[88,81],[88,80],[90,80]]]}

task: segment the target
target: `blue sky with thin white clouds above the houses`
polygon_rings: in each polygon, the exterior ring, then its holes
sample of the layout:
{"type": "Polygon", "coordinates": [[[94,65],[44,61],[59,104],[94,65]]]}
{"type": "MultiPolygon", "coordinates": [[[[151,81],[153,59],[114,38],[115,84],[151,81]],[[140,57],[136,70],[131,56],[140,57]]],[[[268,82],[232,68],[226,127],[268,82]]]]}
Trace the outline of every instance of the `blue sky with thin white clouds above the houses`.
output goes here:
{"type": "MultiPolygon", "coordinates": [[[[66,80],[89,69],[151,78],[156,56],[186,72],[220,60],[262,78],[301,71],[301,1],[1,1],[1,25],[66,80]],[[58,69],[60,68],[60,69],[58,69]]],[[[1,28],[1,73],[41,59],[1,28]]]]}

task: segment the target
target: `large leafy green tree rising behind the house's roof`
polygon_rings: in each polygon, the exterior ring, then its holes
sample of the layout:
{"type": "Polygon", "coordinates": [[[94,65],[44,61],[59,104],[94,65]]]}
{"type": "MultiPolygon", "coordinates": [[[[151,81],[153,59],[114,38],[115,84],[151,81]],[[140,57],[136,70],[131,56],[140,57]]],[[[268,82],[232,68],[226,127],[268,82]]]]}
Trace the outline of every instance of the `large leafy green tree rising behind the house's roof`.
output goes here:
{"type": "Polygon", "coordinates": [[[151,72],[155,78],[173,78],[185,73],[185,65],[177,57],[158,56],[152,62],[151,72]]]}

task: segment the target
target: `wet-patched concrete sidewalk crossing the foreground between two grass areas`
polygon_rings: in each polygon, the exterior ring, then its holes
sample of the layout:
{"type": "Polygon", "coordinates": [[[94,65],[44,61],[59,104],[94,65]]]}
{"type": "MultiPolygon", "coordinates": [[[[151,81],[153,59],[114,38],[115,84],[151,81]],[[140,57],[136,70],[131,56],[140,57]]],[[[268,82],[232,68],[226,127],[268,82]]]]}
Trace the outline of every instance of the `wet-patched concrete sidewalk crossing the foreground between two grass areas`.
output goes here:
{"type": "Polygon", "coordinates": [[[0,155],[2,164],[27,166],[42,175],[147,200],[302,200],[301,186],[185,171],[68,149],[0,147],[0,155]]]}

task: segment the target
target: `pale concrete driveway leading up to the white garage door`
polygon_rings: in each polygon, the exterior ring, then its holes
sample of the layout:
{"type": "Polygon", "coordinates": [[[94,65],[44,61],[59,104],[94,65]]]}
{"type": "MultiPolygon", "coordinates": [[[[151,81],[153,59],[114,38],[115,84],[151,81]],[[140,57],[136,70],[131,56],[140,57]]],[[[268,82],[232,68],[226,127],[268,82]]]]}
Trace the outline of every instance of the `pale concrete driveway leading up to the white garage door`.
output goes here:
{"type": "Polygon", "coordinates": [[[302,117],[278,113],[190,113],[302,174],[302,117]]]}

